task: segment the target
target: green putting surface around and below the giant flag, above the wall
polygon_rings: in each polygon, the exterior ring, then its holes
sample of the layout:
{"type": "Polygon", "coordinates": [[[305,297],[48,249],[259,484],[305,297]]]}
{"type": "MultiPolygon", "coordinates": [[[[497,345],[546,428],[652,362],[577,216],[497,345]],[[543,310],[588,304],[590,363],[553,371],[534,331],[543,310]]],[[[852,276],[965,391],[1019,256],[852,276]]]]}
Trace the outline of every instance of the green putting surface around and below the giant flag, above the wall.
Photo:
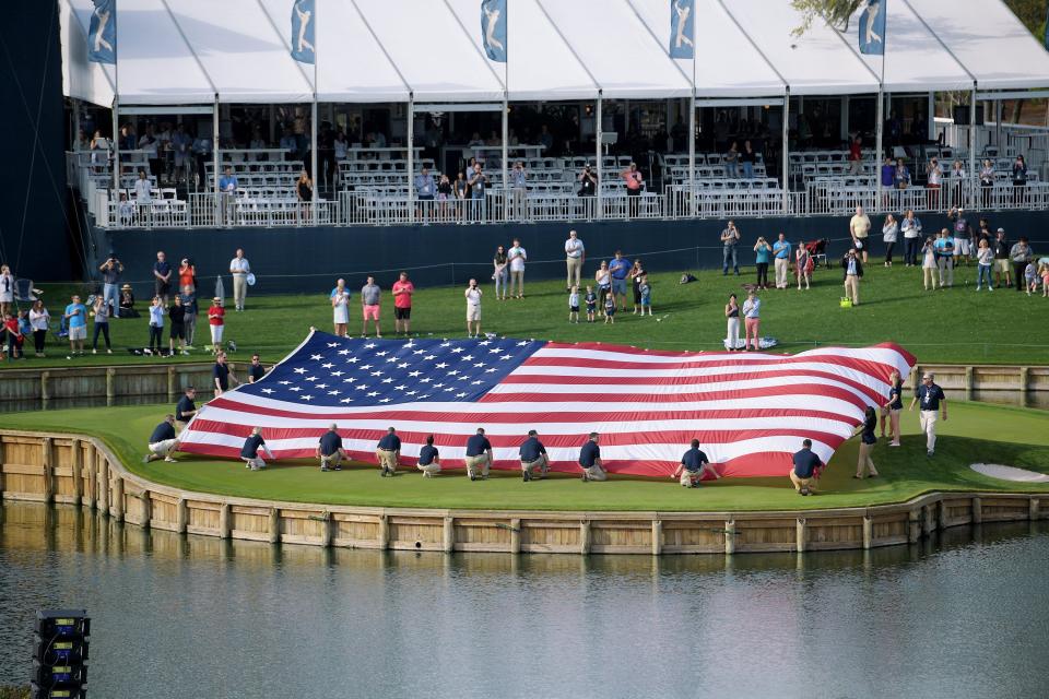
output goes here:
{"type": "MultiPolygon", "coordinates": [[[[620,478],[582,483],[555,475],[522,483],[517,471],[493,471],[484,482],[470,482],[461,470],[423,478],[414,467],[394,478],[380,478],[375,466],[351,466],[321,473],[310,461],[270,464],[250,472],[239,461],[179,454],[178,463],[141,462],[145,442],[168,405],[46,411],[4,415],[8,429],[85,433],[101,437],[127,467],[155,483],[220,495],[377,507],[449,509],[742,511],[806,510],[903,502],[934,490],[1049,493],[1049,484],[999,481],[969,469],[975,462],[1002,463],[1049,473],[1049,412],[983,403],[948,405],[939,425],[936,454],[926,455],[917,413],[903,414],[903,446],[880,441],[873,452],[879,478],[853,479],[858,438],[835,454],[817,497],[799,497],[782,478],[724,478],[698,489],[670,478],[620,478]]],[[[684,452],[685,446],[682,446],[684,452]]]]}

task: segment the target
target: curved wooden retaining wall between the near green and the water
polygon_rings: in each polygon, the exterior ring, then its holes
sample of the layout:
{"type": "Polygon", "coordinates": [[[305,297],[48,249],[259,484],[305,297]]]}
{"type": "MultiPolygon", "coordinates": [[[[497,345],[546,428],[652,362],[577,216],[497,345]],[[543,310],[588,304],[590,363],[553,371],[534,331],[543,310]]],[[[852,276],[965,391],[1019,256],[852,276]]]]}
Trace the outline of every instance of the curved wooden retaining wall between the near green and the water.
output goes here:
{"type": "MultiPolygon", "coordinates": [[[[543,512],[304,505],[178,490],[129,473],[98,439],[0,430],[0,497],[97,509],[117,521],[269,543],[352,548],[735,554],[914,544],[959,524],[1049,518],[1038,495],[930,494],[806,512],[543,512]]],[[[1049,496],[1047,496],[1049,497],[1049,496]]]]}

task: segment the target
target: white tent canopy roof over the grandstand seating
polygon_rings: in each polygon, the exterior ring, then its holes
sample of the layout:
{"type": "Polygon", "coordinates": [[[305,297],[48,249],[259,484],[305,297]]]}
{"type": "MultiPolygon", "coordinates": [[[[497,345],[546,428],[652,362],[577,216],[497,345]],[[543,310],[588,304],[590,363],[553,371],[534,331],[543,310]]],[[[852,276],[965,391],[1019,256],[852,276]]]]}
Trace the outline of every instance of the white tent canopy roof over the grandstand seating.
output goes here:
{"type": "Polygon", "coordinates": [[[484,54],[481,0],[315,0],[316,85],[291,56],[293,0],[117,0],[116,67],[87,60],[92,0],[59,2],[64,94],[103,106],[1049,87],[1049,54],[1002,0],[888,2],[884,80],[857,17],[793,36],[790,0],[695,0],[695,61],[668,55],[670,0],[507,0],[506,64],[484,54]]]}

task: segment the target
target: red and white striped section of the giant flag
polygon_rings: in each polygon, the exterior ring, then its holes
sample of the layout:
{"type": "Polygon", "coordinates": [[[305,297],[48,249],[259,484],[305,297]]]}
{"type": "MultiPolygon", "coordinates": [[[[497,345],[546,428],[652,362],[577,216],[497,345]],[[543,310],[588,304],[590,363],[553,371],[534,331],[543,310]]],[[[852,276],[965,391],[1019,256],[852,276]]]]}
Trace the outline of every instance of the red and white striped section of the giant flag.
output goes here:
{"type": "Polygon", "coordinates": [[[236,458],[259,426],[278,459],[310,458],[335,423],[347,451],[374,462],[392,426],[405,463],[432,434],[443,465],[456,467],[467,438],[484,427],[494,466],[518,469],[518,447],[535,429],[553,469],[571,472],[597,431],[612,473],[669,475],[695,438],[722,475],[778,476],[805,438],[829,461],[867,406],[887,400],[889,374],[906,377],[914,364],[893,344],[777,356],[549,343],[475,403],[326,407],[234,390],[211,401],[180,441],[184,451],[236,458]]]}

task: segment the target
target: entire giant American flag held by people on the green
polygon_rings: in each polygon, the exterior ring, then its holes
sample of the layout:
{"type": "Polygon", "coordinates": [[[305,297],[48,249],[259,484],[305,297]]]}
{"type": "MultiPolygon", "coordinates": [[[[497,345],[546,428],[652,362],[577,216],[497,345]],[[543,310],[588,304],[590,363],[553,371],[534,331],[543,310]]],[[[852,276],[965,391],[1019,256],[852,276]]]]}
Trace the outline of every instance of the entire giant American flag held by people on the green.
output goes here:
{"type": "Polygon", "coordinates": [[[804,438],[825,462],[888,395],[901,347],[826,347],[797,355],[655,352],[601,343],[369,340],[315,331],[261,381],[207,404],[180,437],[187,452],[237,458],[255,426],[278,459],[309,458],[330,424],[354,459],[374,462],[388,427],[414,464],[434,435],[445,467],[461,466],[484,427],[496,469],[519,469],[539,430],[553,470],[578,471],[601,434],[612,473],[673,472],[696,438],[722,475],[783,475],[804,438]]]}

